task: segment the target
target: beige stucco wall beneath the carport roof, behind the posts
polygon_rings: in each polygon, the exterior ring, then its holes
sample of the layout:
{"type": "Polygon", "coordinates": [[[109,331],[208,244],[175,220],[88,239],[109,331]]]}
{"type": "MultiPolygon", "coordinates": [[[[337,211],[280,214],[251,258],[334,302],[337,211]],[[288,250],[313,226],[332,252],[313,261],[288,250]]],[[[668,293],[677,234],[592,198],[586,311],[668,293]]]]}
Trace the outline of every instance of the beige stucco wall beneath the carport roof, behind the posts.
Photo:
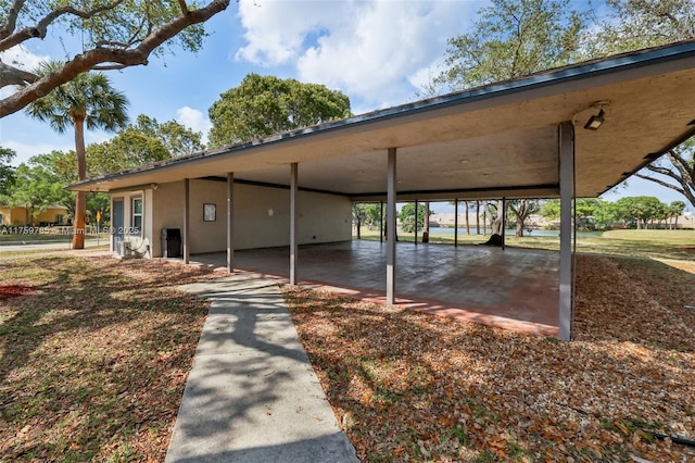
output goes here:
{"type": "MultiPolygon", "coordinates": [[[[162,228],[184,233],[184,182],[160,184],[150,191],[153,256],[162,255],[162,228]]],[[[219,252],[227,249],[227,184],[190,180],[190,252],[219,252]],[[214,204],[215,221],[203,217],[204,204],[214,204]]],[[[146,211],[148,211],[146,201],[146,211]]],[[[235,184],[235,249],[289,246],[290,191],[282,188],[235,184]]],[[[345,241],[352,237],[352,202],[346,197],[300,191],[298,239],[301,245],[345,241]]],[[[147,217],[146,217],[147,221],[147,217]]],[[[147,233],[147,230],[146,230],[147,233]]]]}

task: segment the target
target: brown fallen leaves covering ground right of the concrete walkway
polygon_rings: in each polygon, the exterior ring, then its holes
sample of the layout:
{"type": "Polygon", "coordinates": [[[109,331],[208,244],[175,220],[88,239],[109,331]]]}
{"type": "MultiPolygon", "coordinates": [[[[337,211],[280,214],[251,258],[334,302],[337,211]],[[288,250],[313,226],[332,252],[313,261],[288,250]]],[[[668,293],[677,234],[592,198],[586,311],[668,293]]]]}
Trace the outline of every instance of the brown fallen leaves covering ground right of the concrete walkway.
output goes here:
{"type": "Polygon", "coordinates": [[[579,256],[576,340],[285,288],[364,461],[695,460],[695,275],[579,256]]]}

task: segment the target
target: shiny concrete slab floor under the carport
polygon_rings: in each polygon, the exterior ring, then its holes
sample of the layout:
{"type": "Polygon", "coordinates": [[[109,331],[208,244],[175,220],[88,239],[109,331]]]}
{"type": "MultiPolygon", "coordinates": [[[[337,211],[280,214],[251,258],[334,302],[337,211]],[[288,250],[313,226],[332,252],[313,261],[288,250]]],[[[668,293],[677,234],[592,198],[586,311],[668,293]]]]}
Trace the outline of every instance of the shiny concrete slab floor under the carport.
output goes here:
{"type": "MultiPolygon", "coordinates": [[[[353,240],[301,246],[298,277],[320,287],[386,303],[386,242],[353,240]]],[[[191,263],[226,268],[226,253],[191,263]]],[[[235,251],[235,268],[289,275],[289,247],[235,251]]],[[[486,246],[396,243],[396,302],[412,310],[544,336],[556,336],[559,254],[486,246]]]]}

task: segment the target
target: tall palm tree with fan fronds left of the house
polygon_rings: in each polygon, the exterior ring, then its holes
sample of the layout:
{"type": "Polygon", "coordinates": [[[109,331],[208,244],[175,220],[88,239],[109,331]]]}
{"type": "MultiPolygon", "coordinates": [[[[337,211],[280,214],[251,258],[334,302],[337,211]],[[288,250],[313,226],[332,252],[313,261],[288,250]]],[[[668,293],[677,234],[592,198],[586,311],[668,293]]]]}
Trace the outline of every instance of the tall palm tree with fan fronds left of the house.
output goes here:
{"type": "MultiPolygon", "coordinates": [[[[50,62],[40,65],[40,77],[60,70],[63,63],[50,62]]],[[[39,121],[47,122],[59,134],[70,126],[75,130],[75,153],[77,154],[77,179],[87,175],[85,158],[85,125],[87,129],[115,132],[128,123],[125,95],[111,87],[111,82],[102,73],[84,73],[64,84],[46,97],[31,102],[26,112],[39,121]]],[[[87,193],[77,192],[75,202],[75,234],[73,248],[85,248],[85,215],[87,193]]]]}

